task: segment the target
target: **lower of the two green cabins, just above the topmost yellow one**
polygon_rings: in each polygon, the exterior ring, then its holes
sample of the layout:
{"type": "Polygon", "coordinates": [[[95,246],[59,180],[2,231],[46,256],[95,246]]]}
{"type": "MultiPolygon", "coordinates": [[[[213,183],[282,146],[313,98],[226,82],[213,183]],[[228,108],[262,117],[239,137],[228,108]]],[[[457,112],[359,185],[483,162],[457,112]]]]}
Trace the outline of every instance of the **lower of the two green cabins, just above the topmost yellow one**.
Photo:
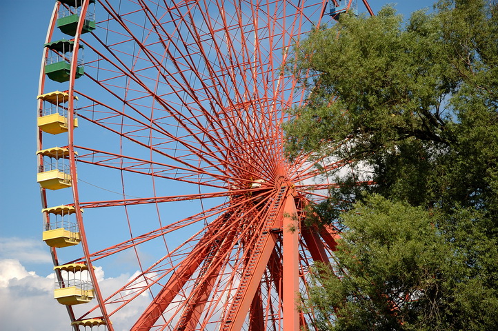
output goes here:
{"type": "MultiPolygon", "coordinates": [[[[71,59],[74,50],[74,41],[61,39],[46,43],[45,47],[48,48],[49,54],[45,62],[45,74],[52,81],[63,83],[69,81],[71,72],[71,59]]],[[[78,48],[83,49],[82,45],[78,48]]],[[[76,78],[83,76],[83,57],[77,60],[76,78]]]]}

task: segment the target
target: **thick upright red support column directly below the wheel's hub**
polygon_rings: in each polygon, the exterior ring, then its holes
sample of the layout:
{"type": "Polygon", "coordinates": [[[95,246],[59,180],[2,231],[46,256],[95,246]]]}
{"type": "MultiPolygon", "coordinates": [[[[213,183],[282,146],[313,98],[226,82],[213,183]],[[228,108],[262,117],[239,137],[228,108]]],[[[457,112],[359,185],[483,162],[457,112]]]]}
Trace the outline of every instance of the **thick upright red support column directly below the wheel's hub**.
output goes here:
{"type": "Polygon", "coordinates": [[[289,194],[283,208],[283,328],[299,331],[299,221],[294,197],[289,194]]]}

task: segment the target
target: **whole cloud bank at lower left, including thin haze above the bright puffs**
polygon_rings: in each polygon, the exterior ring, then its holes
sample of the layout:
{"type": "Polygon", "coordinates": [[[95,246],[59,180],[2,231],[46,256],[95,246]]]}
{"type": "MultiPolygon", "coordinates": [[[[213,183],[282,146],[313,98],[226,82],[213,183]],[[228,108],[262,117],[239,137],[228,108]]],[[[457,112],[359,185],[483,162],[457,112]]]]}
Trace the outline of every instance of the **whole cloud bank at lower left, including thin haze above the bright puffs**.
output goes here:
{"type": "MultiPolygon", "coordinates": [[[[0,330],[70,330],[66,308],[54,300],[53,272],[46,277],[40,276],[34,271],[26,270],[25,265],[32,265],[29,268],[34,265],[52,265],[50,249],[46,243],[35,239],[0,237],[0,330]]],[[[134,279],[138,273],[106,278],[104,269],[98,265],[95,269],[104,298],[134,279]]],[[[144,292],[119,310],[111,317],[114,330],[130,330],[149,303],[150,294],[144,292]]],[[[88,305],[93,307],[94,304],[95,301],[92,301],[88,305]]],[[[87,305],[73,306],[77,317],[89,308],[87,305]]],[[[109,310],[114,308],[110,307],[109,310]]]]}

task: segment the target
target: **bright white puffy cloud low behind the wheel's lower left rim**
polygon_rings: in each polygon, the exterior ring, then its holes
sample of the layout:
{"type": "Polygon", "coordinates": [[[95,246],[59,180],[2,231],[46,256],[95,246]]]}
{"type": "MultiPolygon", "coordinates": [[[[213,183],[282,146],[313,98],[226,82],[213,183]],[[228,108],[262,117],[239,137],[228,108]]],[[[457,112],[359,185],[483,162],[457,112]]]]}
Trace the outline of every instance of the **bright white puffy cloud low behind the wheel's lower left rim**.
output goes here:
{"type": "MultiPolygon", "coordinates": [[[[101,267],[97,267],[95,272],[104,297],[108,297],[135,276],[121,274],[119,277],[106,279],[101,267]]],[[[0,259],[1,330],[70,330],[66,308],[54,300],[53,291],[53,273],[41,277],[35,272],[26,270],[17,259],[0,259]]],[[[114,330],[129,330],[149,302],[150,295],[144,293],[117,312],[111,317],[114,330]]],[[[76,305],[73,308],[78,315],[89,307],[76,305]]]]}

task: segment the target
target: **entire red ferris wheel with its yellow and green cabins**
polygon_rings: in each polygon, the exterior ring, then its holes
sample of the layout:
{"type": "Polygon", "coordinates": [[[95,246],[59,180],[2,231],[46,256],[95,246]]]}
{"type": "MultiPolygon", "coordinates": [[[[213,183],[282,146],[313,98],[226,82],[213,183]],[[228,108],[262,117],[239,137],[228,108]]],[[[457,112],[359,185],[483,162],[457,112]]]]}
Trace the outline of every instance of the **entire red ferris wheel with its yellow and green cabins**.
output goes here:
{"type": "Polygon", "coordinates": [[[316,163],[343,163],[286,159],[285,110],[306,96],[282,69],[353,2],[55,3],[37,180],[68,328],[310,324],[299,300],[338,234],[303,219],[335,185],[316,163]]]}

